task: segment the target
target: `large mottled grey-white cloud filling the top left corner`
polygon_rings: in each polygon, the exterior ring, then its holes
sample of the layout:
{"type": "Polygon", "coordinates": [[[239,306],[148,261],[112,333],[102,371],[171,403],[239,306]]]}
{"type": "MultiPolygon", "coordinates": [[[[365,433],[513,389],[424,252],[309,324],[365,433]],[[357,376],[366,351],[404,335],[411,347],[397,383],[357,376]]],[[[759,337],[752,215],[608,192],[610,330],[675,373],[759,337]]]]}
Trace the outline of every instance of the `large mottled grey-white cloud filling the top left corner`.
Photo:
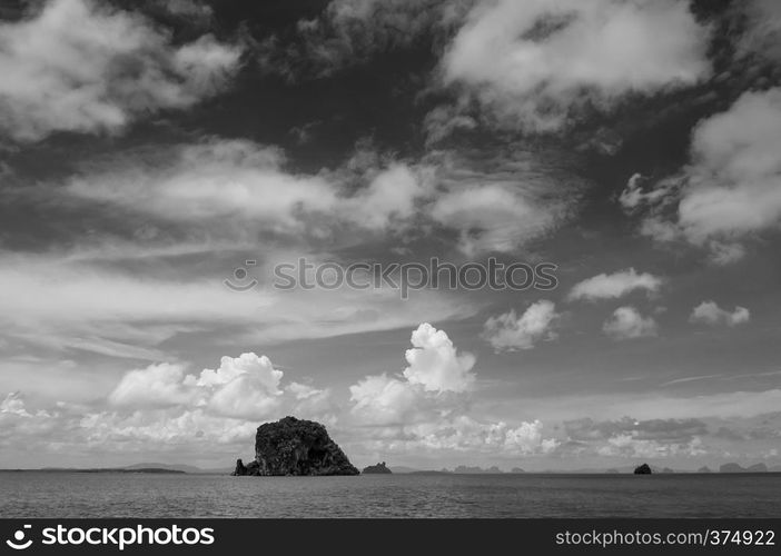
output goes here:
{"type": "Polygon", "coordinates": [[[174,46],[140,14],[90,0],[50,0],[1,23],[0,41],[0,130],[22,141],[192,106],[226,87],[241,53],[210,34],[174,46]]]}

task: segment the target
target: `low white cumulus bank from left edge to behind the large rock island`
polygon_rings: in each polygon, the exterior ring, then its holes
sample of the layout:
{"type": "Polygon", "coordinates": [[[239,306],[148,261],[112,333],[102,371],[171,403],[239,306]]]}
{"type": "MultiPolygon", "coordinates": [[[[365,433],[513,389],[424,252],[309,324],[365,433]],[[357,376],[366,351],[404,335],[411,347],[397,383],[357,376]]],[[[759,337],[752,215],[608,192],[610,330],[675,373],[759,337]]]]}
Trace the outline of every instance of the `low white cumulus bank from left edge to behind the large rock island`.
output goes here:
{"type": "Polygon", "coordinates": [[[105,401],[32,410],[11,393],[0,398],[0,446],[12,446],[26,465],[30,454],[60,457],[65,450],[71,460],[85,457],[81,465],[96,455],[127,465],[139,454],[167,453],[179,460],[217,456],[221,466],[251,445],[263,420],[293,414],[334,424],[337,414],[329,389],[285,385],[267,357],[251,353],[224,357],[218,368],[200,374],[180,363],[135,369],[105,401]]]}

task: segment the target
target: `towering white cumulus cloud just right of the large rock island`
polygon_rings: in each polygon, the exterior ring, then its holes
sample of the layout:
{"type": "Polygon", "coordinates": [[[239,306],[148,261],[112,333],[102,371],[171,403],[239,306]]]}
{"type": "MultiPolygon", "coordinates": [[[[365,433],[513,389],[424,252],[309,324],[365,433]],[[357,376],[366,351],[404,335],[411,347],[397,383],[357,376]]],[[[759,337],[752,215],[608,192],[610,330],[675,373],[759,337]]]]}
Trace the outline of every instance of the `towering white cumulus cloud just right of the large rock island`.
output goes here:
{"type": "Polygon", "coordinates": [[[471,449],[518,455],[555,449],[557,441],[543,438],[540,420],[511,426],[468,415],[475,359],[458,355],[443,330],[423,324],[412,342],[409,365],[401,375],[367,376],[349,387],[352,416],[372,426],[356,443],[383,453],[471,449]]]}

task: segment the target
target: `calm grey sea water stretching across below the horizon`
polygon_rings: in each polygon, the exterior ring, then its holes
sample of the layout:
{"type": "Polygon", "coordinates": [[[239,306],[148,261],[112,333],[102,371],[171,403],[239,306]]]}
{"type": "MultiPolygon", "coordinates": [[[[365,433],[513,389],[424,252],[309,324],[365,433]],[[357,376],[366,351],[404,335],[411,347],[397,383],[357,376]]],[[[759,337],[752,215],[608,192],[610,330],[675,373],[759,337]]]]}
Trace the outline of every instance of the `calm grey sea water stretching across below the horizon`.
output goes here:
{"type": "Polygon", "coordinates": [[[0,471],[0,517],[751,516],[781,516],[781,474],[229,477],[0,471]]]}

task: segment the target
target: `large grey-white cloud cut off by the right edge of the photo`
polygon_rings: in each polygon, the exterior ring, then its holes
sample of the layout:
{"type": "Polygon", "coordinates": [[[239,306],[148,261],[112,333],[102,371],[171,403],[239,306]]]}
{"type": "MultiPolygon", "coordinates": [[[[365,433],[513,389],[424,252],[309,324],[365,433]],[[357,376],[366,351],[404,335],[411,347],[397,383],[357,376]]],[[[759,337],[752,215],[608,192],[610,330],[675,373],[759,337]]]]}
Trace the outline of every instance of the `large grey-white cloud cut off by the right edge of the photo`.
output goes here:
{"type": "MultiPolygon", "coordinates": [[[[781,224],[779,141],[781,89],[744,92],[698,123],[691,163],[642,196],[647,209],[641,231],[704,246],[716,264],[739,260],[745,239],[781,224]]],[[[639,198],[632,182],[622,198],[639,198]]]]}

